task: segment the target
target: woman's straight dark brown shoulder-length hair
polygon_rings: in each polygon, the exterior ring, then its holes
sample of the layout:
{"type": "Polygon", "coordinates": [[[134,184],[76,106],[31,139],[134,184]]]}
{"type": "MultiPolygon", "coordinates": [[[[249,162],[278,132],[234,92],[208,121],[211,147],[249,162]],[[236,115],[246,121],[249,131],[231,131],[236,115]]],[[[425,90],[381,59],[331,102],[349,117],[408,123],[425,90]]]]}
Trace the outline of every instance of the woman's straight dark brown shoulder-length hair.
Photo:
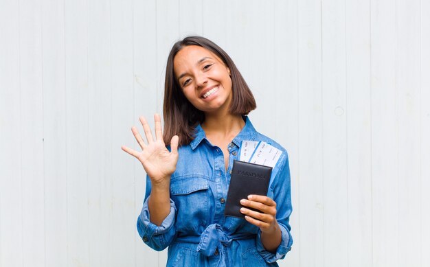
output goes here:
{"type": "Polygon", "coordinates": [[[194,129],[196,125],[202,123],[205,119],[205,113],[199,111],[187,100],[176,76],[174,76],[174,56],[176,56],[183,47],[188,45],[199,45],[200,47],[212,51],[212,53],[223,60],[224,64],[230,69],[231,91],[233,93],[231,105],[229,107],[231,114],[248,115],[250,111],[257,107],[256,100],[251,90],[229,55],[207,38],[188,36],[173,45],[167,60],[163,102],[163,139],[166,144],[170,143],[170,139],[172,139],[174,135],[179,136],[179,146],[190,143],[192,139],[194,139],[194,129]]]}

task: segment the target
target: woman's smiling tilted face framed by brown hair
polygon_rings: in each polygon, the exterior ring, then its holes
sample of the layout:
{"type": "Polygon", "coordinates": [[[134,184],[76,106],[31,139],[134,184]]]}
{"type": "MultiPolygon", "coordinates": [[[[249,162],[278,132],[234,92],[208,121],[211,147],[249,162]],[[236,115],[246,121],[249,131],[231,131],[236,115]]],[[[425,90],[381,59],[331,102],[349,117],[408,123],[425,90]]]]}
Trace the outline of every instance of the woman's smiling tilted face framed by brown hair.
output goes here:
{"type": "Polygon", "coordinates": [[[214,53],[197,45],[183,47],[174,57],[173,69],[183,94],[195,108],[204,113],[229,110],[230,70],[214,53]]]}

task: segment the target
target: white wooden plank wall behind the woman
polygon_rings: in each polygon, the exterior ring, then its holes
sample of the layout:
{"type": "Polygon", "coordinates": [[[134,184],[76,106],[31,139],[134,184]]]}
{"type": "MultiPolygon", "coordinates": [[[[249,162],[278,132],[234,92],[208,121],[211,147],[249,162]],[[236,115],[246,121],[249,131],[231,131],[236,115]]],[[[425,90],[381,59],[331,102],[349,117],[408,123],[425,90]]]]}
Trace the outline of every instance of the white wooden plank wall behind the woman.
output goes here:
{"type": "Polygon", "coordinates": [[[139,239],[137,117],[203,34],[289,151],[281,266],[430,266],[429,0],[0,0],[0,266],[164,266],[139,239]]]}

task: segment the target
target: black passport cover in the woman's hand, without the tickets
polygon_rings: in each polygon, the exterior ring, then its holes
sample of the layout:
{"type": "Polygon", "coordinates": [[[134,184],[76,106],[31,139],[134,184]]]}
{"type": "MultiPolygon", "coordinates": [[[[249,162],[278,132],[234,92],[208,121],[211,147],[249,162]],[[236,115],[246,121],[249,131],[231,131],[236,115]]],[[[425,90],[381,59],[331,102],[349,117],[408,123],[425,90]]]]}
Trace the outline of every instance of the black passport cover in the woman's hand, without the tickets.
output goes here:
{"type": "Polygon", "coordinates": [[[272,167],[244,162],[234,161],[231,170],[229,191],[227,202],[225,203],[225,216],[245,218],[240,213],[241,199],[248,199],[248,196],[267,196],[272,167]]]}

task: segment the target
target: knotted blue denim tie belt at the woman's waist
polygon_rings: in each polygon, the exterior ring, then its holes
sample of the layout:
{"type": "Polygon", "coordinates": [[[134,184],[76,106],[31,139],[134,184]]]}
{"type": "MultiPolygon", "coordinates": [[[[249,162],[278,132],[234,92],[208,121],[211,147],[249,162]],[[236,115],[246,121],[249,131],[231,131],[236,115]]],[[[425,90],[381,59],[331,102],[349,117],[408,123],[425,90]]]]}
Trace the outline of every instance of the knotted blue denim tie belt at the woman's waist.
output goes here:
{"type": "Polygon", "coordinates": [[[188,242],[199,244],[197,251],[209,257],[214,255],[216,248],[223,246],[230,246],[233,240],[246,240],[256,237],[251,233],[238,233],[227,235],[219,224],[210,224],[206,227],[205,231],[199,236],[186,236],[178,237],[178,242],[188,242]]]}

